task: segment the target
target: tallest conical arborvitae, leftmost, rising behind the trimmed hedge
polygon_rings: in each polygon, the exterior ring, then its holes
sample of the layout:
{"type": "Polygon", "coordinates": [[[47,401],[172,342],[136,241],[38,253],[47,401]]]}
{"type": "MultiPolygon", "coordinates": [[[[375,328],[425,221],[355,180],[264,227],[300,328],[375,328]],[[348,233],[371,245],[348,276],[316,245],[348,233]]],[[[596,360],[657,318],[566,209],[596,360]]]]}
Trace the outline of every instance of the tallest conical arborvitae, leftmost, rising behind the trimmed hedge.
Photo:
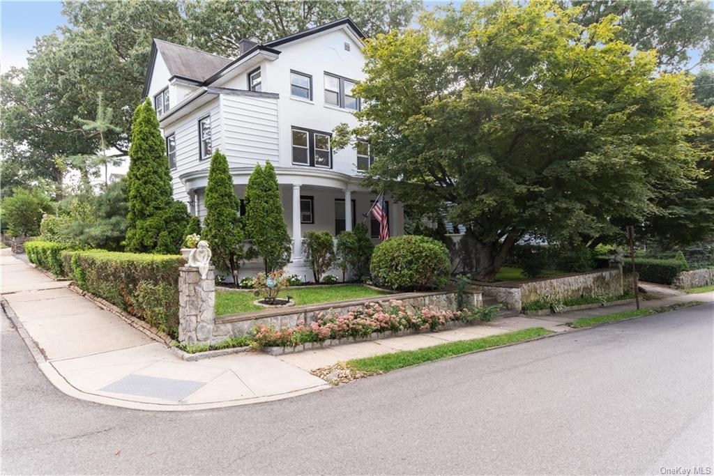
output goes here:
{"type": "Polygon", "coordinates": [[[129,158],[126,249],[140,253],[178,252],[188,213],[185,204],[174,203],[172,198],[169,158],[149,98],[134,111],[129,158]]]}

